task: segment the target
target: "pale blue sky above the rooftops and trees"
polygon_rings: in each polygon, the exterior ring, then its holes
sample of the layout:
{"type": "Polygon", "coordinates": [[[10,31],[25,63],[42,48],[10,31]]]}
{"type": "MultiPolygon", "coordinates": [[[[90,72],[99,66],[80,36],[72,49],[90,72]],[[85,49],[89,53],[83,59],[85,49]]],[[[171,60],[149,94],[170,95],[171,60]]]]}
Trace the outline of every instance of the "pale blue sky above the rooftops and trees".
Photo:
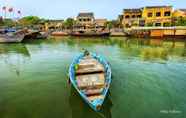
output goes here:
{"type": "Polygon", "coordinates": [[[124,8],[153,5],[186,8],[186,0],[0,0],[0,16],[4,5],[21,10],[23,16],[65,19],[76,17],[78,12],[94,12],[96,18],[115,19],[124,8]]]}

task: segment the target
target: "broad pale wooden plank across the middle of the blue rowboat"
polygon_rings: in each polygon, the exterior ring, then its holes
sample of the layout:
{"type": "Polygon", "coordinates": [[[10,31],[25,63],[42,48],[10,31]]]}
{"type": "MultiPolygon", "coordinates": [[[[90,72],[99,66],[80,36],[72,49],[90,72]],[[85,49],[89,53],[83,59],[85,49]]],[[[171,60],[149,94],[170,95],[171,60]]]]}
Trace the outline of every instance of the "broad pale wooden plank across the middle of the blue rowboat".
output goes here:
{"type": "Polygon", "coordinates": [[[104,73],[77,75],[76,82],[79,89],[99,89],[105,85],[104,73]]]}

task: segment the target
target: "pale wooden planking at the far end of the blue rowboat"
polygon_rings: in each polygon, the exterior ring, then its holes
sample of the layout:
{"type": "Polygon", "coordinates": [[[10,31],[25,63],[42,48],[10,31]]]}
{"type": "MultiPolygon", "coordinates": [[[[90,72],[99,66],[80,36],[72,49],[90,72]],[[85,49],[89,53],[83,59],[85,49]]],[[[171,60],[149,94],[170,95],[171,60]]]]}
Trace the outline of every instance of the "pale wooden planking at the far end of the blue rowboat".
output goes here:
{"type": "Polygon", "coordinates": [[[104,67],[96,59],[83,59],[78,64],[76,75],[102,73],[102,72],[104,72],[104,67]]]}

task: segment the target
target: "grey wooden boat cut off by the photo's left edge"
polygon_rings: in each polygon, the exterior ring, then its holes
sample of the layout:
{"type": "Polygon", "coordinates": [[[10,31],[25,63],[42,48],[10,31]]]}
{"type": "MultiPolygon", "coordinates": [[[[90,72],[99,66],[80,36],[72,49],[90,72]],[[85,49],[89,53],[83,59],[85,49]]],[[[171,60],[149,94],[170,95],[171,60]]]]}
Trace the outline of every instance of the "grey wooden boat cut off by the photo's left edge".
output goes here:
{"type": "Polygon", "coordinates": [[[24,36],[25,34],[21,30],[16,32],[1,33],[0,43],[18,43],[23,40],[24,36]]]}

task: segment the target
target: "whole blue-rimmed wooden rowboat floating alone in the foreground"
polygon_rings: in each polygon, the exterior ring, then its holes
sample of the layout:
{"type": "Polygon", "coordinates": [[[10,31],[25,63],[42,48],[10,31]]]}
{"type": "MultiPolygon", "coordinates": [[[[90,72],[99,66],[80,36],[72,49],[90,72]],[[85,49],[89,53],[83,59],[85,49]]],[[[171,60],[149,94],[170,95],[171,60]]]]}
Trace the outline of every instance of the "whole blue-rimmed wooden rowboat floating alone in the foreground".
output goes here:
{"type": "Polygon", "coordinates": [[[95,111],[100,111],[111,83],[111,67],[106,59],[85,51],[74,58],[69,77],[83,100],[95,111]]]}

